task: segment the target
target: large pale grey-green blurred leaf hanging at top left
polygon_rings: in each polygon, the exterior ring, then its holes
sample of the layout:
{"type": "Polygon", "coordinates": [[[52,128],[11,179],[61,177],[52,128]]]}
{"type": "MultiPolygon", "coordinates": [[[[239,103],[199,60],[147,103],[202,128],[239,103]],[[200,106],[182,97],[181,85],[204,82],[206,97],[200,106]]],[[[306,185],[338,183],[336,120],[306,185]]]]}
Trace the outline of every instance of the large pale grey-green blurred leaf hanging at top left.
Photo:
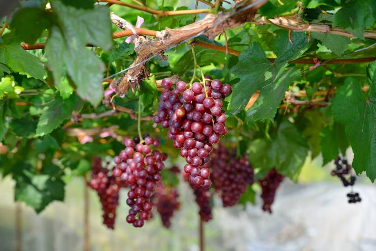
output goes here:
{"type": "Polygon", "coordinates": [[[108,50],[112,47],[109,10],[104,6],[81,8],[64,5],[60,0],[51,2],[58,25],[51,28],[46,44],[48,68],[55,84],[67,74],[77,86],[78,95],[96,106],[102,99],[102,73],[105,66],[93,52],[85,48],[87,43],[108,50]]]}

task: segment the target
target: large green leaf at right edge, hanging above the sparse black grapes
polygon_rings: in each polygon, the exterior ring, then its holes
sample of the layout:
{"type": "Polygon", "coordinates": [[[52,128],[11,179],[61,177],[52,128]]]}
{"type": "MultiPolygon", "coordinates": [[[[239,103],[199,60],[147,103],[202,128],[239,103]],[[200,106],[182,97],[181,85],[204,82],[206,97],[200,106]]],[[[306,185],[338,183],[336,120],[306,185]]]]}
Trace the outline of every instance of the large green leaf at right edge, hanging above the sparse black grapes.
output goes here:
{"type": "MultiPolygon", "coordinates": [[[[369,69],[373,68],[373,62],[369,69]]],[[[357,173],[365,171],[373,182],[376,178],[376,80],[370,79],[368,97],[359,81],[347,78],[338,88],[331,110],[334,120],[345,125],[345,132],[354,151],[352,166],[357,173]]]]}

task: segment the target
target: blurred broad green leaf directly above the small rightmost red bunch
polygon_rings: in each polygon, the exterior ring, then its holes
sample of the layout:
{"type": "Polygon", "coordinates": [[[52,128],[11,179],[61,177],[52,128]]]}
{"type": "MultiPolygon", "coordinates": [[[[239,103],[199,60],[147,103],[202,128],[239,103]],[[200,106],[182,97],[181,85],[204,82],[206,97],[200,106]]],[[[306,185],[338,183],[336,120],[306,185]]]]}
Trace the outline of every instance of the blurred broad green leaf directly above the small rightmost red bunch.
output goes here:
{"type": "Polygon", "coordinates": [[[255,168],[278,172],[296,181],[308,154],[308,145],[295,125],[284,120],[271,141],[256,139],[248,147],[248,159],[255,168]]]}

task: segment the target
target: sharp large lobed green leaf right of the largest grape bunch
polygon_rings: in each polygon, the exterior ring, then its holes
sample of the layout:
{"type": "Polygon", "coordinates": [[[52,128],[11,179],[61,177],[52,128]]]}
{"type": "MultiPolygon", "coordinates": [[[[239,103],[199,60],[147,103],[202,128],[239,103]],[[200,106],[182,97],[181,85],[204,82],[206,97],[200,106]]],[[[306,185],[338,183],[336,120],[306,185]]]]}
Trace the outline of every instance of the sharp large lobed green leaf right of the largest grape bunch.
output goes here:
{"type": "Polygon", "coordinates": [[[260,44],[256,42],[240,54],[237,64],[231,69],[240,78],[233,88],[228,106],[231,115],[240,112],[253,93],[260,90],[258,100],[248,111],[249,119],[274,118],[289,83],[300,77],[296,68],[284,69],[287,62],[301,55],[311,45],[302,33],[293,33],[291,38],[293,44],[289,42],[287,32],[279,33],[274,46],[277,54],[274,64],[265,57],[260,44]]]}

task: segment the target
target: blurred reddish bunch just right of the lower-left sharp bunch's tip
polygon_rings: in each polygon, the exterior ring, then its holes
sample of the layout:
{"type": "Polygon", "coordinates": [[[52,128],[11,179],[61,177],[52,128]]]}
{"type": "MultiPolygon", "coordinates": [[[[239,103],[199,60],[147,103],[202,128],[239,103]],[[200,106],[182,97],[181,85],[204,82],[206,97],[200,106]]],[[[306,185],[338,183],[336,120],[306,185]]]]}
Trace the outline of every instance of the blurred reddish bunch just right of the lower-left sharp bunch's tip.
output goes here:
{"type": "Polygon", "coordinates": [[[171,226],[170,219],[174,216],[174,212],[180,208],[178,197],[179,194],[176,189],[167,188],[161,182],[158,182],[153,201],[162,219],[162,224],[166,228],[171,226]]]}

